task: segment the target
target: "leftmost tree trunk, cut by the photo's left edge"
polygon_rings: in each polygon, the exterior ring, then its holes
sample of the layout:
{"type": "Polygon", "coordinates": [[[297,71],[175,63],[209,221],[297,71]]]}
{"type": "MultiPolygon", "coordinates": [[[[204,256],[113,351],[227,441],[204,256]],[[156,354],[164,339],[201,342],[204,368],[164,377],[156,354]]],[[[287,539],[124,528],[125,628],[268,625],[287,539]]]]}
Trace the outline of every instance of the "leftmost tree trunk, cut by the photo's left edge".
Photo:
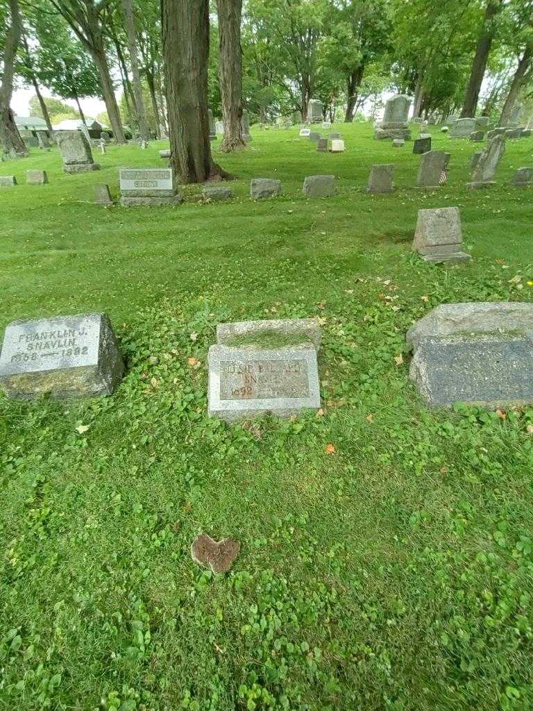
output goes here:
{"type": "Polygon", "coordinates": [[[13,77],[15,73],[15,58],[18,43],[21,40],[22,22],[18,0],[9,0],[11,13],[11,26],[6,33],[4,41],[4,73],[0,84],[0,141],[10,156],[17,154],[26,155],[26,146],[18,133],[11,111],[11,96],[13,95],[13,77]]]}

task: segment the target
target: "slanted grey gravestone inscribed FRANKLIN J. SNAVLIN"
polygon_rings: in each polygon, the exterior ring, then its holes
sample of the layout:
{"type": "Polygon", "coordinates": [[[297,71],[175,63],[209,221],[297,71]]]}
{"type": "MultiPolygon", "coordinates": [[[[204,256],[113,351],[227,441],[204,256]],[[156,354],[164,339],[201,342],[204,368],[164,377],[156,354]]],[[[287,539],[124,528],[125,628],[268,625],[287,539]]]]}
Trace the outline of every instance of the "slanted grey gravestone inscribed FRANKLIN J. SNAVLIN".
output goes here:
{"type": "Polygon", "coordinates": [[[0,354],[0,385],[8,397],[111,395],[124,374],[105,314],[14,321],[0,354]]]}

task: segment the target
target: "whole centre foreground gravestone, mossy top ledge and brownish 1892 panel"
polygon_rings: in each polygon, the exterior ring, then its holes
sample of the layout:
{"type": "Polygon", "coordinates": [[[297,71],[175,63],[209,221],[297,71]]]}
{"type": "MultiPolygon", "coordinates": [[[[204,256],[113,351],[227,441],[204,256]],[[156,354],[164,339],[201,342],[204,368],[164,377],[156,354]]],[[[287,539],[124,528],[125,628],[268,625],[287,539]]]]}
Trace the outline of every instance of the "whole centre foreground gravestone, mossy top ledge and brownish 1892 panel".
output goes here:
{"type": "Polygon", "coordinates": [[[209,414],[232,422],[321,407],[314,319],[220,324],[209,349],[209,414]]]}

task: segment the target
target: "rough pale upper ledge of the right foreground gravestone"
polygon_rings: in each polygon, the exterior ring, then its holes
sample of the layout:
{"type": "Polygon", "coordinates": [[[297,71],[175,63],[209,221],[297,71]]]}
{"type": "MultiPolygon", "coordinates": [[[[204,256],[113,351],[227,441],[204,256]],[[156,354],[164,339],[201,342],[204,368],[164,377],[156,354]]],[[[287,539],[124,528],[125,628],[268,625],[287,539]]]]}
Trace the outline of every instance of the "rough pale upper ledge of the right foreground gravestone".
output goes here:
{"type": "Polygon", "coordinates": [[[417,348],[424,338],[502,331],[533,338],[533,304],[520,301],[441,304],[409,328],[407,343],[417,348]]]}

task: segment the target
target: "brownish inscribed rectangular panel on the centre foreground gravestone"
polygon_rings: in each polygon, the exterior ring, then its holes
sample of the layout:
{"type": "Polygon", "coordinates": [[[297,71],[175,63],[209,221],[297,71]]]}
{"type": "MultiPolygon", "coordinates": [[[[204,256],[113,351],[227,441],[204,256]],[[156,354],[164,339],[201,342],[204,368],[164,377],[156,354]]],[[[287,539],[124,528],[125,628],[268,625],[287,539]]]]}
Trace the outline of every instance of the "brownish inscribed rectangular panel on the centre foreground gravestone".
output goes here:
{"type": "Polygon", "coordinates": [[[220,362],[220,400],[309,397],[306,360],[220,362]]]}

